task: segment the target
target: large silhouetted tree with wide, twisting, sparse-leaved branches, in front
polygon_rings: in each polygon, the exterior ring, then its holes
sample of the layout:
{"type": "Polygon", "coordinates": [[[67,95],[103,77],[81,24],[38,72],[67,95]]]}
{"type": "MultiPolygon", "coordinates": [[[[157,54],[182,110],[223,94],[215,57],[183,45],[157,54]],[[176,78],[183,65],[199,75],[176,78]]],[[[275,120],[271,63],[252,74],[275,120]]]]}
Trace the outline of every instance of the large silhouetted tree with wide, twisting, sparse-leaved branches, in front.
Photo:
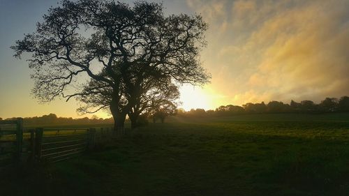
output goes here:
{"type": "Polygon", "coordinates": [[[209,82],[198,60],[206,30],[200,15],[166,17],[161,3],[63,0],[12,48],[18,58],[31,54],[32,92],[40,101],[76,98],[80,112],[109,110],[122,128],[149,78],[209,82]]]}

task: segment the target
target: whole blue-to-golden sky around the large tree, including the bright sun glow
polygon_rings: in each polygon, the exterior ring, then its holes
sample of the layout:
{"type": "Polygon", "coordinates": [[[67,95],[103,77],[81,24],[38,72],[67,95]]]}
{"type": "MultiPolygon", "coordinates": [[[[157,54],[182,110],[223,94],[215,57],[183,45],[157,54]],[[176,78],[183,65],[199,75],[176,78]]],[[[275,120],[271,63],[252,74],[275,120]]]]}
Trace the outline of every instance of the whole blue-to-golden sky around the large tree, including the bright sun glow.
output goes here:
{"type": "MultiPolygon", "coordinates": [[[[200,61],[211,83],[181,86],[179,107],[185,110],[349,96],[348,0],[164,0],[163,5],[166,15],[200,14],[209,24],[200,61]]],[[[27,61],[13,58],[10,50],[15,40],[35,30],[50,6],[57,1],[0,0],[2,118],[84,117],[78,116],[74,100],[39,104],[31,96],[27,61]]]]}

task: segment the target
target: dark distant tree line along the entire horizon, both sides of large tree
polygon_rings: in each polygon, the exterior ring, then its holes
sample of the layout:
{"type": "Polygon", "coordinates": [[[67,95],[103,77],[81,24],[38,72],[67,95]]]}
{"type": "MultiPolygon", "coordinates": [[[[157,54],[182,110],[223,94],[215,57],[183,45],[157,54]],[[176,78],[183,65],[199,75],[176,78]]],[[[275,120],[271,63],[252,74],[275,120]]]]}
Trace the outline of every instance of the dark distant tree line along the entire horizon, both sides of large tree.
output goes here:
{"type": "MultiPolygon", "coordinates": [[[[204,110],[204,109],[191,109],[185,111],[183,109],[175,110],[174,107],[168,107],[167,110],[160,110],[158,112],[144,113],[142,114],[142,120],[140,125],[145,125],[151,119],[153,122],[160,120],[165,121],[165,118],[170,115],[177,116],[230,116],[239,114],[268,114],[268,113],[326,113],[326,112],[349,112],[349,96],[343,96],[341,98],[325,98],[320,103],[316,104],[312,100],[302,100],[297,103],[291,100],[290,104],[283,103],[281,101],[272,100],[269,103],[246,103],[242,106],[239,105],[221,105],[216,110],[204,110]]],[[[5,120],[13,120],[15,118],[8,118],[5,120]]],[[[128,118],[129,119],[129,118],[128,118]]],[[[2,120],[2,118],[0,118],[2,120]]],[[[96,124],[96,123],[114,123],[114,119],[98,118],[92,116],[73,119],[72,117],[57,117],[56,114],[48,114],[43,116],[34,116],[24,118],[24,126],[37,126],[37,125],[78,125],[78,124],[96,124]]]]}

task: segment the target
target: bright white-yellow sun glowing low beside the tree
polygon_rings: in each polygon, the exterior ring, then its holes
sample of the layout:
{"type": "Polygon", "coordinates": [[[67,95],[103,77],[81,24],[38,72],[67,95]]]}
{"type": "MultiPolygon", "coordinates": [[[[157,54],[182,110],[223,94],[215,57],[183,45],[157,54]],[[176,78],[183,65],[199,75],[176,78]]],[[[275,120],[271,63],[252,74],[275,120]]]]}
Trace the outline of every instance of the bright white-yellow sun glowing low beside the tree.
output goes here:
{"type": "Polygon", "coordinates": [[[179,88],[179,92],[181,93],[179,100],[182,103],[179,108],[186,111],[196,108],[210,109],[208,96],[204,89],[198,86],[184,85],[179,88]]]}

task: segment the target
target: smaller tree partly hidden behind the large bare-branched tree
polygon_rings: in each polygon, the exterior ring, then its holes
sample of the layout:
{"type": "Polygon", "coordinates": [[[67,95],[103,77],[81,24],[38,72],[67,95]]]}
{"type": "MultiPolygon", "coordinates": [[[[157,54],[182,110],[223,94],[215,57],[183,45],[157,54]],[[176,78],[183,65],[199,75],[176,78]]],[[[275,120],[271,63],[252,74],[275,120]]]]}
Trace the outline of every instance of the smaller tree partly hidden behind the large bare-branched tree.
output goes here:
{"type": "MultiPolygon", "coordinates": [[[[110,86],[105,86],[101,82],[94,82],[90,84],[89,88],[84,91],[84,95],[80,96],[80,101],[85,103],[84,107],[80,107],[79,111],[88,112],[89,108],[96,106],[109,106],[110,86]],[[92,91],[91,86],[95,86],[92,91]],[[93,96],[91,96],[93,95],[93,96]]],[[[171,102],[172,105],[177,105],[176,100],[179,98],[178,87],[171,82],[171,77],[148,77],[138,86],[138,93],[140,96],[134,96],[132,91],[125,91],[125,98],[133,100],[131,110],[128,112],[128,117],[131,120],[131,128],[136,128],[138,125],[138,117],[140,114],[149,113],[151,110],[158,110],[162,105],[171,102]]],[[[127,100],[124,99],[124,102],[127,100]]]]}

